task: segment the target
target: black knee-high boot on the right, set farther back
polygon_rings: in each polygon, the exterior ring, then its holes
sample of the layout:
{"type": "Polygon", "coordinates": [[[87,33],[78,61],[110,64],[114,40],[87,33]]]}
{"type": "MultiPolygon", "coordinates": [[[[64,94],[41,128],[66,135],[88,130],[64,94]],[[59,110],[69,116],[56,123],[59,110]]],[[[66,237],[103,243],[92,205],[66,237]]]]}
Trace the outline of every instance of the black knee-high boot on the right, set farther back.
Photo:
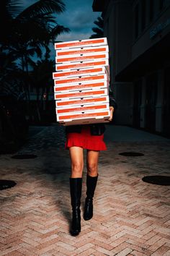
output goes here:
{"type": "Polygon", "coordinates": [[[91,177],[86,175],[86,200],[84,207],[84,220],[89,221],[93,217],[93,197],[97,187],[98,175],[91,177]]]}

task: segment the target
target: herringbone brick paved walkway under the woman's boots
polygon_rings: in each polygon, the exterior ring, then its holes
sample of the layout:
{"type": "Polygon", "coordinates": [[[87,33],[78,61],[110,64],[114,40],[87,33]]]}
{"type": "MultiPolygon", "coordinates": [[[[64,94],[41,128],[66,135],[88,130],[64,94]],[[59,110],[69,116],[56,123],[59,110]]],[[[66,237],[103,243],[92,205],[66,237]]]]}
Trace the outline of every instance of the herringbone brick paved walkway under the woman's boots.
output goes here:
{"type": "MultiPolygon", "coordinates": [[[[0,255],[170,255],[170,186],[142,180],[170,176],[170,140],[112,125],[105,140],[108,150],[99,158],[94,218],[81,218],[76,237],[68,232],[70,161],[63,149],[63,127],[43,127],[18,152],[37,158],[0,156],[1,179],[17,182],[0,192],[0,255]],[[127,151],[144,155],[120,155],[127,151]]],[[[83,178],[81,216],[86,168],[83,178]]]]}

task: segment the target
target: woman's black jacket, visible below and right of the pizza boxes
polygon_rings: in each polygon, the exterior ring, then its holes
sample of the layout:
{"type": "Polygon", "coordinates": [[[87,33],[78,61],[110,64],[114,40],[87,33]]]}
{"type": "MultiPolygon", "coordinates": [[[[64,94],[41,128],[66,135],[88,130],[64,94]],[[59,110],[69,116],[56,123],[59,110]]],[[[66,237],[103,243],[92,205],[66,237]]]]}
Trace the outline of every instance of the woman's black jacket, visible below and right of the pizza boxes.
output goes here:
{"type": "MultiPolygon", "coordinates": [[[[109,95],[109,106],[112,106],[114,109],[117,108],[117,103],[115,101],[115,98],[112,97],[112,95],[109,95]]],[[[66,127],[66,134],[70,132],[81,132],[81,127],[84,125],[88,125],[90,127],[91,135],[102,135],[105,131],[105,125],[104,124],[79,124],[79,125],[70,125],[66,127]]]]}

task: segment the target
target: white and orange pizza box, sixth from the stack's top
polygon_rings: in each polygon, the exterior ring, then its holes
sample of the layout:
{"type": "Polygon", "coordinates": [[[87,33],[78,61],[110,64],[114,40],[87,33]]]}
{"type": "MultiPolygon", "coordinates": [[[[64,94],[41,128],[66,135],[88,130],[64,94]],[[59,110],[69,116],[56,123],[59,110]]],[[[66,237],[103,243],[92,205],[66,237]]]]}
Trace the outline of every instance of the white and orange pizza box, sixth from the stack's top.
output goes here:
{"type": "Polygon", "coordinates": [[[90,82],[90,81],[107,81],[107,74],[95,74],[95,75],[82,75],[79,77],[70,77],[68,79],[54,80],[54,85],[71,85],[80,82],[90,82]]]}

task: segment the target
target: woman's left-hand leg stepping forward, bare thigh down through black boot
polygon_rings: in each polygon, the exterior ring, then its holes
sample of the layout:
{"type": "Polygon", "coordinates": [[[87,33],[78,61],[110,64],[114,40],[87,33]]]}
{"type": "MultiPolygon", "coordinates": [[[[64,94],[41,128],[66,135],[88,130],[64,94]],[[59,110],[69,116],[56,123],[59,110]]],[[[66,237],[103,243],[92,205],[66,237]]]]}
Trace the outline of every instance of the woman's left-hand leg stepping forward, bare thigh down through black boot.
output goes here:
{"type": "Polygon", "coordinates": [[[76,236],[81,231],[81,189],[82,189],[82,173],[84,168],[83,149],[79,147],[71,147],[71,177],[70,177],[70,192],[72,206],[72,223],[71,235],[76,236]]]}

